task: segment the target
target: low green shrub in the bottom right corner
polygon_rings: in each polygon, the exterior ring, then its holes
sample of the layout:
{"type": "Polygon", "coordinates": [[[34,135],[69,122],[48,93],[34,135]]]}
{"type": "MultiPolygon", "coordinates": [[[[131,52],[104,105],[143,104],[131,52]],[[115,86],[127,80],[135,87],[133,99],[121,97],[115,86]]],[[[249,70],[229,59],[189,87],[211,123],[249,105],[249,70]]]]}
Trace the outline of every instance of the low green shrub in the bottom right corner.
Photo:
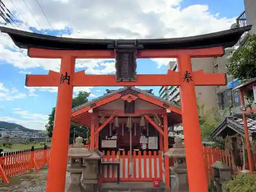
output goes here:
{"type": "Polygon", "coordinates": [[[222,186],[223,192],[255,192],[256,175],[240,174],[222,186]]]}

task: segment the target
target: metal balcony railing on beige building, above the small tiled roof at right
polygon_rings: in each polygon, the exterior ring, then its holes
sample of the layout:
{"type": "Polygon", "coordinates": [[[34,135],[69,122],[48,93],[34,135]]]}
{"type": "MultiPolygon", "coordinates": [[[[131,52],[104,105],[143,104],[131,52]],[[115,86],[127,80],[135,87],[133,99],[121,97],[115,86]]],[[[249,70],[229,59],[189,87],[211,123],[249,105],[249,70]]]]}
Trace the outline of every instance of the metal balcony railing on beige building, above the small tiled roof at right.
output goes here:
{"type": "Polygon", "coordinates": [[[240,94],[238,90],[228,89],[218,93],[218,105],[221,110],[226,107],[236,107],[241,105],[240,94]]]}

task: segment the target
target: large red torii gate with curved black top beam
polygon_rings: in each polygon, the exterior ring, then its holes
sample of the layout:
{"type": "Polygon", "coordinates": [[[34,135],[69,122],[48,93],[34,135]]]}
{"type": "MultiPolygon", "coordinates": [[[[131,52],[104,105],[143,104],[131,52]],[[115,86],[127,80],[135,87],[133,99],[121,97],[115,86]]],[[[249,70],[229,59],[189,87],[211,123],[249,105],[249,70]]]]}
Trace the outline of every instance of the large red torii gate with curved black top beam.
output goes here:
{"type": "MultiPolygon", "coordinates": [[[[241,35],[250,29],[251,26],[247,26],[173,39],[112,40],[53,37],[0,27],[2,32],[11,36],[15,45],[28,49],[30,57],[61,59],[60,73],[49,71],[48,75],[27,75],[26,77],[28,87],[58,87],[47,192],[65,191],[73,87],[78,86],[180,86],[189,191],[207,192],[208,181],[204,166],[195,86],[225,85],[226,77],[224,74],[204,74],[202,70],[193,72],[190,59],[222,56],[224,48],[232,47],[241,35]],[[129,49],[130,52],[123,53],[123,48],[129,49]],[[132,52],[131,49],[133,49],[132,52]],[[122,57],[119,57],[119,51],[122,52],[122,57]],[[129,56],[130,53],[132,55],[129,56]],[[125,73],[121,71],[124,75],[121,78],[128,77],[127,82],[117,82],[116,75],[86,75],[84,71],[75,73],[76,58],[115,57],[117,60],[123,58],[122,64],[130,66],[134,64],[134,59],[136,64],[136,58],[175,57],[178,58],[179,72],[168,71],[166,75],[137,75],[133,78],[134,73],[127,76],[129,68],[121,66],[126,70],[125,73]]],[[[131,68],[135,68],[136,71],[135,65],[131,68]]],[[[120,75],[118,70],[120,69],[117,69],[117,76],[120,75]]]]}

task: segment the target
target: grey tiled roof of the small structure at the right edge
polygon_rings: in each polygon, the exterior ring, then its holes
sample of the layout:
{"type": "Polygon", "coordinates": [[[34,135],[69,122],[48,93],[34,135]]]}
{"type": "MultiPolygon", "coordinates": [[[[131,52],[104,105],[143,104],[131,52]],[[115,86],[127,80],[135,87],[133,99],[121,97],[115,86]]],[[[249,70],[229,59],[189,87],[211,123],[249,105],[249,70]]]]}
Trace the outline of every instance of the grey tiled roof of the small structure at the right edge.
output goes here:
{"type": "MultiPolygon", "coordinates": [[[[249,135],[256,135],[256,114],[247,115],[247,125],[249,135]]],[[[216,127],[213,137],[217,137],[226,128],[232,129],[233,131],[244,135],[244,121],[242,114],[234,114],[232,117],[226,117],[221,123],[216,127]]]]}

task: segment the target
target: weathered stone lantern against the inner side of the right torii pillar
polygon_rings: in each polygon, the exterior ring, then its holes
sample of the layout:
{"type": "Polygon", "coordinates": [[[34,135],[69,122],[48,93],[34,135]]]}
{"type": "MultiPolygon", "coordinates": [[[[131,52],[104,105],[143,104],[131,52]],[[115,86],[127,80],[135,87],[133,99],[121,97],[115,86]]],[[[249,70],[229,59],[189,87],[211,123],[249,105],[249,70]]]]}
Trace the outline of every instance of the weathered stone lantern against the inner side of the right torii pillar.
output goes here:
{"type": "Polygon", "coordinates": [[[174,159],[174,166],[170,167],[170,173],[175,176],[177,183],[172,187],[172,192],[188,192],[185,147],[180,137],[176,137],[174,142],[173,148],[169,148],[164,154],[165,157],[174,159]]]}

